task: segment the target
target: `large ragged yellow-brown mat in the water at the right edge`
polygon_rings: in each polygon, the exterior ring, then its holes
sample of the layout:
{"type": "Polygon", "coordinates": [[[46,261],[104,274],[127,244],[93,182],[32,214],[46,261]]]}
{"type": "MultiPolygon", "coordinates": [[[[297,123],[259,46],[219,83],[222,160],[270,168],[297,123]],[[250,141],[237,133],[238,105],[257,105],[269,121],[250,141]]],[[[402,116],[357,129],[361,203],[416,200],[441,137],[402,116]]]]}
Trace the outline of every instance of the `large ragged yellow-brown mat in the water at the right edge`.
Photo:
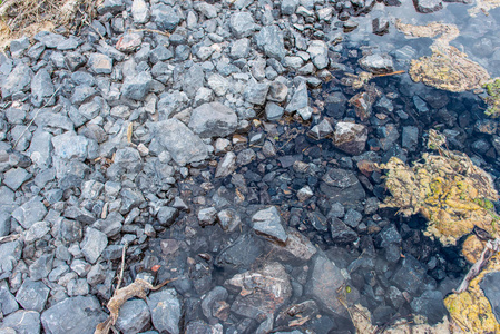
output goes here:
{"type": "Polygon", "coordinates": [[[443,245],[455,245],[478,226],[498,235],[491,200],[498,199],[491,176],[461,153],[440,148],[439,155],[423,154],[412,167],[396,157],[380,166],[386,170],[385,187],[391,197],[382,204],[405,216],[422,214],[425,234],[443,245]]]}

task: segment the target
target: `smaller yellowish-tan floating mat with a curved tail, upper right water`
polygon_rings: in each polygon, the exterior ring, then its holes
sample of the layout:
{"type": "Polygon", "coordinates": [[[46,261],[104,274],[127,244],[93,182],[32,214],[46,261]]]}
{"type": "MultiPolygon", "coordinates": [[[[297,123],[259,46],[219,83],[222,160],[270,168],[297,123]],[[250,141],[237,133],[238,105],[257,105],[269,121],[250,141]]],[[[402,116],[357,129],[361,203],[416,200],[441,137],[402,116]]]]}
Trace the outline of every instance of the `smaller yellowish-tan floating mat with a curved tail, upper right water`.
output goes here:
{"type": "Polygon", "coordinates": [[[430,57],[411,61],[409,73],[413,81],[449,91],[464,91],[481,88],[490,79],[484,68],[450,46],[450,41],[460,35],[457,26],[438,22],[414,26],[404,24],[400,20],[395,26],[410,38],[439,36],[430,46],[430,57]]]}

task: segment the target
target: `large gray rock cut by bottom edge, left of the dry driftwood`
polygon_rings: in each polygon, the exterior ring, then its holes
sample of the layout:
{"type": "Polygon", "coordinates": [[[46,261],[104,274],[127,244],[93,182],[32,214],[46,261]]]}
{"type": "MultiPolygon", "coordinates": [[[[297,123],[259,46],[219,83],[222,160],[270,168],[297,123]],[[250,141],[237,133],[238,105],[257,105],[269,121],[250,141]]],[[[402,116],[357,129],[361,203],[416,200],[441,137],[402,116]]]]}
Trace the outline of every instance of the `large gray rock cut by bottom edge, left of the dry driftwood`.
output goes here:
{"type": "Polygon", "coordinates": [[[41,314],[46,333],[91,334],[96,326],[106,320],[96,297],[66,298],[41,314]]]}

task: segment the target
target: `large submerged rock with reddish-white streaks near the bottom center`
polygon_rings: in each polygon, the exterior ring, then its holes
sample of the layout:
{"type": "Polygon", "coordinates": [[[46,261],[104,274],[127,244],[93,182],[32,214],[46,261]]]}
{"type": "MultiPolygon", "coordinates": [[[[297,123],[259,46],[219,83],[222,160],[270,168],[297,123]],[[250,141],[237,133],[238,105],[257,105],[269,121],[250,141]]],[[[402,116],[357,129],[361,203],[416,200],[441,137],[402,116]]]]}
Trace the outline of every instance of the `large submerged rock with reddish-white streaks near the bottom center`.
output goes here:
{"type": "Polygon", "coordinates": [[[280,263],[267,263],[261,271],[237,274],[227,279],[225,286],[245,292],[236,296],[231,311],[254,320],[274,314],[292,296],[290,277],[280,263]]]}

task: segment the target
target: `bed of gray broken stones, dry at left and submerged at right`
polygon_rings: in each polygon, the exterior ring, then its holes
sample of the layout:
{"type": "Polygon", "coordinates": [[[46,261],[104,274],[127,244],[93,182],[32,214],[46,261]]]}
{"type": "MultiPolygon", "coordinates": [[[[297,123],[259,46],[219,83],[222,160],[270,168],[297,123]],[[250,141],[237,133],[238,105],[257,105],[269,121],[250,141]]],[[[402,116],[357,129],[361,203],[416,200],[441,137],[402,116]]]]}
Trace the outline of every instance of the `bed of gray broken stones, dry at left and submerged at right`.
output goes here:
{"type": "Polygon", "coordinates": [[[469,264],[422,217],[379,208],[376,164],[419,158],[438,128],[498,177],[500,137],[472,94],[353,86],[408,70],[412,48],[343,41],[364,16],[386,33],[369,13],[400,4],[105,0],[78,35],[12,41],[0,333],[94,333],[124,247],[122,286],[175,281],[126,302],[121,333],[355,333],[355,305],[379,326],[442,322],[469,264]]]}

